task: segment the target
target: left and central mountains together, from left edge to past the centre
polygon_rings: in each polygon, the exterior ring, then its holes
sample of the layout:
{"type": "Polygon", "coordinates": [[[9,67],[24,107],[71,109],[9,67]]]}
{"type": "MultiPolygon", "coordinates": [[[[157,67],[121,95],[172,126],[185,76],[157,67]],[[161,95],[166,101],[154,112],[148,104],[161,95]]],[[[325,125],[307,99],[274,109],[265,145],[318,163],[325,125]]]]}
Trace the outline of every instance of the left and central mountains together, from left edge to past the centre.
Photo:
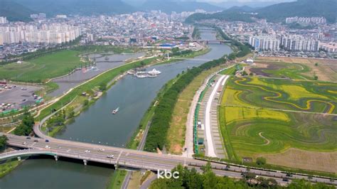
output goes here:
{"type": "Polygon", "coordinates": [[[6,16],[9,21],[29,21],[31,13],[46,13],[47,16],[57,14],[89,16],[151,10],[180,13],[196,9],[223,10],[219,6],[205,2],[181,0],[0,0],[0,16],[6,16]]]}

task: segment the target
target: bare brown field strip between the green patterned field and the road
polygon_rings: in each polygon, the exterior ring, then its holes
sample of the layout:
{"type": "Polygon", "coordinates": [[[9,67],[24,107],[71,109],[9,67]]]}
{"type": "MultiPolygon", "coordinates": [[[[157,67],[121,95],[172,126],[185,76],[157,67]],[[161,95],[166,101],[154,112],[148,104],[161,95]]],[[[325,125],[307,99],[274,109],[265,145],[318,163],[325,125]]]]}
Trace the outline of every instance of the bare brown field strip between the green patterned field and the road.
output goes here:
{"type": "Polygon", "coordinates": [[[337,151],[315,152],[289,148],[282,153],[259,154],[254,158],[260,156],[266,158],[267,163],[279,166],[337,173],[337,151]]]}

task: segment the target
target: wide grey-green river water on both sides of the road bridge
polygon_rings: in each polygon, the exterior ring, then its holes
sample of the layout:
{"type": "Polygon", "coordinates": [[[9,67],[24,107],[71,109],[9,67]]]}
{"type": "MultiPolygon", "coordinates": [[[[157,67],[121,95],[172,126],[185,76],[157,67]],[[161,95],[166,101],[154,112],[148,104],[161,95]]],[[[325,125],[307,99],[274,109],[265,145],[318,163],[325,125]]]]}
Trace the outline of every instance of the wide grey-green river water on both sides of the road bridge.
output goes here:
{"type": "MultiPolygon", "coordinates": [[[[214,31],[200,29],[203,40],[215,40],[214,31]]],[[[228,45],[208,44],[210,52],[197,57],[202,60],[183,60],[169,65],[155,65],[161,74],[154,78],[127,75],[106,95],[75,118],[72,124],[55,137],[73,141],[123,147],[139,126],[146,109],[166,82],[183,70],[220,58],[232,52],[228,45]],[[113,109],[119,112],[112,115],[113,109]]],[[[60,159],[62,160],[62,158],[60,159]]],[[[33,158],[24,161],[15,171],[0,179],[0,188],[106,188],[112,168],[83,166],[80,161],[54,161],[52,158],[33,158]]]]}

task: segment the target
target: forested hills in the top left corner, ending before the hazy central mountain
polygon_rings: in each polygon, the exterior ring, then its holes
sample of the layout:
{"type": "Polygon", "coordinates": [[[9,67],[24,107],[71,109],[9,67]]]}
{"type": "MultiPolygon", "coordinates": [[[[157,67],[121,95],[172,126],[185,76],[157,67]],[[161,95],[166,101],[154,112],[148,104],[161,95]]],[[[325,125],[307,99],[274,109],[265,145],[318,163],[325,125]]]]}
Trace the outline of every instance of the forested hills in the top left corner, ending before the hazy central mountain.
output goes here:
{"type": "Polygon", "coordinates": [[[121,0],[0,0],[0,5],[0,16],[8,17],[9,21],[26,21],[31,13],[46,13],[47,16],[57,14],[90,16],[137,11],[121,0]],[[9,3],[12,5],[3,9],[3,4],[9,3]]]}

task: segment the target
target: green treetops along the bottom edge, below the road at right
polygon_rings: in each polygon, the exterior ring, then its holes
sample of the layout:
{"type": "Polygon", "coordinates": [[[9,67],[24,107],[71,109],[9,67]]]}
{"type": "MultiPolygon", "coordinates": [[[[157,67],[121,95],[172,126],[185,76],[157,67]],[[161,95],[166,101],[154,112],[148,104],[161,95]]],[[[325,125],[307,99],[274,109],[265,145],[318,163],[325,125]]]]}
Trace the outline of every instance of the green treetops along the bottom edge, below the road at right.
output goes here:
{"type": "Polygon", "coordinates": [[[243,173],[242,179],[221,177],[213,173],[210,163],[201,168],[203,174],[195,168],[188,169],[179,165],[171,173],[178,171],[178,178],[159,178],[151,183],[150,188],[334,188],[323,183],[311,184],[306,180],[292,180],[288,186],[278,185],[273,178],[256,177],[254,173],[243,173]]]}

